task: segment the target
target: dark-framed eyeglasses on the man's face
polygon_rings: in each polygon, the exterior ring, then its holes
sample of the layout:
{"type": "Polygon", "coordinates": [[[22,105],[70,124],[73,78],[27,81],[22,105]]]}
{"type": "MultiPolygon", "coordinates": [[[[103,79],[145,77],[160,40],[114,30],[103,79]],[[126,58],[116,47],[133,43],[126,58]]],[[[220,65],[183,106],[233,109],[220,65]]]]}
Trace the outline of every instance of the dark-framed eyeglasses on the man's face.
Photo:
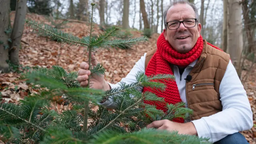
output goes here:
{"type": "Polygon", "coordinates": [[[186,19],[184,21],[170,21],[170,22],[167,22],[165,25],[167,25],[169,30],[178,29],[181,23],[183,23],[183,25],[186,28],[192,28],[196,26],[196,21],[197,21],[196,19],[186,19]]]}

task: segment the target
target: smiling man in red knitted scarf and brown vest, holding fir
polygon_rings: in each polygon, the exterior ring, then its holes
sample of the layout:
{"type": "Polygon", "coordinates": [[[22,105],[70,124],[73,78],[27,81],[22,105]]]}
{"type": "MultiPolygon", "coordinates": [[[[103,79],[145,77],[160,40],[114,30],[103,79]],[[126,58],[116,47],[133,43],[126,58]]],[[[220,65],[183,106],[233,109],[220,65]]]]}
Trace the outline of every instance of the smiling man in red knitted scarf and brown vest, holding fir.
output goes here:
{"type": "MultiPolygon", "coordinates": [[[[174,74],[176,82],[168,81],[164,93],[155,92],[168,103],[185,102],[193,109],[187,120],[155,121],[147,128],[178,130],[180,134],[210,138],[216,144],[248,143],[239,131],[252,128],[252,111],[246,91],[238,78],[230,57],[200,36],[198,10],[187,0],[172,3],[164,12],[165,29],[157,40],[157,48],[144,54],[121,81],[136,82],[135,74],[174,74]]],[[[98,62],[92,55],[92,65],[98,62]]],[[[78,81],[88,84],[88,64],[80,65],[78,81]]],[[[104,80],[91,79],[91,86],[109,90],[119,86],[104,80]]],[[[143,88],[142,92],[151,91],[143,88]]],[[[111,99],[102,103],[114,107],[111,99]]],[[[160,105],[157,108],[162,109],[160,105]]]]}

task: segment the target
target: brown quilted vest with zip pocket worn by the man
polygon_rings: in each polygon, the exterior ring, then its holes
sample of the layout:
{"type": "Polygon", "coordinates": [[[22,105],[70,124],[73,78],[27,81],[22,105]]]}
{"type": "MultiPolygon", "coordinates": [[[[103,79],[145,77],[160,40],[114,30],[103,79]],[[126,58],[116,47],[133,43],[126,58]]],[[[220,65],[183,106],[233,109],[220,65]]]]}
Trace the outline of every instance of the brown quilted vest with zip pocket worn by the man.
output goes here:
{"type": "MultiPolygon", "coordinates": [[[[145,70],[155,52],[156,49],[153,49],[147,53],[145,70]]],[[[222,111],[219,86],[229,59],[229,54],[213,48],[204,40],[202,54],[189,74],[192,79],[186,83],[188,108],[194,111],[190,120],[222,111]]]]}

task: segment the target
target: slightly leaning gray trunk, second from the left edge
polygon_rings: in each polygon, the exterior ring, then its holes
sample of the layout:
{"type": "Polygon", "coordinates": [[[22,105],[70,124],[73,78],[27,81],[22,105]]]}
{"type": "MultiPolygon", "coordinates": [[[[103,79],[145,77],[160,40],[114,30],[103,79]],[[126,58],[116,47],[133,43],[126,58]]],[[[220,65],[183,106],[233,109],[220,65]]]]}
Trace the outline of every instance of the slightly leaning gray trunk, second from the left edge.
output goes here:
{"type": "Polygon", "coordinates": [[[24,23],[27,14],[27,0],[17,0],[15,19],[11,34],[10,61],[14,65],[19,65],[20,41],[22,38],[24,23]]]}

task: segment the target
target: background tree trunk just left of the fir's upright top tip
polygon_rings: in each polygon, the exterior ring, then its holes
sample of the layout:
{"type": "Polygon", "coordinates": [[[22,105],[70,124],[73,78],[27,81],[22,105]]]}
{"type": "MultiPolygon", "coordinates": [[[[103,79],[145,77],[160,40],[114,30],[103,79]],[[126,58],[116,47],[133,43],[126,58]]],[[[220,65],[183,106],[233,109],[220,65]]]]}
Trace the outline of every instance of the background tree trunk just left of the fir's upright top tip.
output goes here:
{"type": "Polygon", "coordinates": [[[78,20],[87,21],[88,18],[88,0],[79,0],[78,20]]]}

